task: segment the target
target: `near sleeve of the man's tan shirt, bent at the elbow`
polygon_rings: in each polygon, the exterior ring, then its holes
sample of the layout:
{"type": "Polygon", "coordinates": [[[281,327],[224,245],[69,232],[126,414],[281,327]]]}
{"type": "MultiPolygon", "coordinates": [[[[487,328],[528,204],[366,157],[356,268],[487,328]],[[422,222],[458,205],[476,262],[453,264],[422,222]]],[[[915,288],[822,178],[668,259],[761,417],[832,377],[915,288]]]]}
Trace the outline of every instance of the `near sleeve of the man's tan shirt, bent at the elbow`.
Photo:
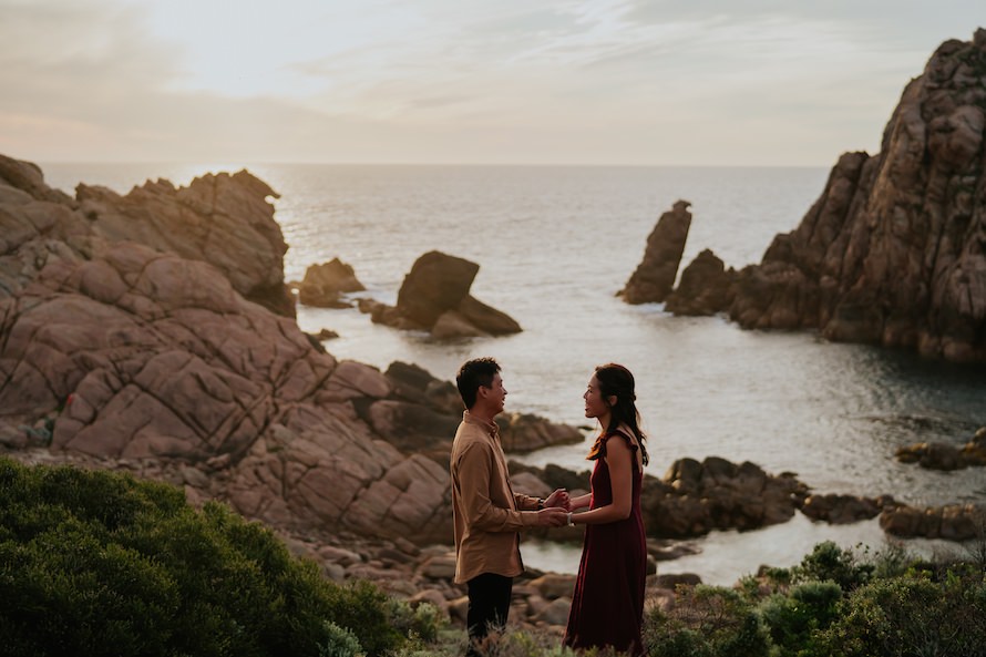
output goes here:
{"type": "Polygon", "coordinates": [[[493,453],[480,443],[459,456],[459,485],[465,524],[483,532],[517,532],[534,523],[533,513],[503,509],[490,497],[493,453]]]}

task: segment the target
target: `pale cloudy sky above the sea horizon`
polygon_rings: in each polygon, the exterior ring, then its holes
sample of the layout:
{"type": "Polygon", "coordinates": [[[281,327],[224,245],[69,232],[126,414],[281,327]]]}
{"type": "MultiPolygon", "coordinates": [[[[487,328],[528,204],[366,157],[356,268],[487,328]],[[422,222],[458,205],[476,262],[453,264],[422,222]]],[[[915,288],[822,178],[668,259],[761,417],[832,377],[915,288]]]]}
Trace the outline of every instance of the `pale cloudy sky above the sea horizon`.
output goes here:
{"type": "Polygon", "coordinates": [[[0,0],[39,163],[831,166],[975,0],[0,0]]]}

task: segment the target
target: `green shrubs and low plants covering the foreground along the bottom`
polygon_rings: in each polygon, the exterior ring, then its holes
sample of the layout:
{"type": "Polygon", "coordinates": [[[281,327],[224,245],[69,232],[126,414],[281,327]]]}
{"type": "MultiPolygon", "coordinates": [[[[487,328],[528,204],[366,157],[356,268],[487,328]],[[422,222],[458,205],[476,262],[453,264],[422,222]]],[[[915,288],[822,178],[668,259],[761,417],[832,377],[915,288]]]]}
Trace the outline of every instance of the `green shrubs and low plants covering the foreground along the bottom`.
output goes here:
{"type": "MultiPolygon", "coordinates": [[[[452,657],[465,643],[436,608],[336,585],[222,504],[4,459],[0,600],[10,656],[452,657]]],[[[651,657],[986,657],[986,543],[934,562],[821,543],[735,587],[681,587],[647,613],[645,643],[651,657]]],[[[487,655],[574,657],[513,626],[487,655]]]]}

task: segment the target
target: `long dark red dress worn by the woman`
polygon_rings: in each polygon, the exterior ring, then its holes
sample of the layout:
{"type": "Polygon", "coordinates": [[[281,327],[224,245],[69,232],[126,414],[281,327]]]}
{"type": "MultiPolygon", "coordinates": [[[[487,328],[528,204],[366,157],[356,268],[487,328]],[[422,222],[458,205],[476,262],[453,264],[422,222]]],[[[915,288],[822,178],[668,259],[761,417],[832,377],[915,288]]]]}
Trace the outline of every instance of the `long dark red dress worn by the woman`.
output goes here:
{"type": "MultiPolygon", "coordinates": [[[[593,470],[589,509],[613,502],[609,468],[603,456],[606,442],[625,440],[620,432],[604,438],[603,450],[593,470]]],[[[626,520],[586,525],[578,578],[568,613],[565,645],[572,648],[613,646],[629,655],[644,655],[640,626],[644,623],[644,585],[647,579],[647,544],[640,517],[640,486],[644,473],[633,454],[633,506],[626,520]]]]}

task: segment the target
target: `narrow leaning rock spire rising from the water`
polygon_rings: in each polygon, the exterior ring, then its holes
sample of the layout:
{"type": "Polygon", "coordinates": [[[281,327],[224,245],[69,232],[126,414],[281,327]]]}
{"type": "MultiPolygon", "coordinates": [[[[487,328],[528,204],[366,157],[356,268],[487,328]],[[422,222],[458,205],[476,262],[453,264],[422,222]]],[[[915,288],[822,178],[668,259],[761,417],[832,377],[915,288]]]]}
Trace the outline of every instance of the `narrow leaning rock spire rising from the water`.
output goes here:
{"type": "Polygon", "coordinates": [[[675,287],[685,240],[691,227],[687,201],[678,201],[664,213],[647,237],[644,259],[630,275],[619,295],[627,304],[664,301],[675,287]]]}

